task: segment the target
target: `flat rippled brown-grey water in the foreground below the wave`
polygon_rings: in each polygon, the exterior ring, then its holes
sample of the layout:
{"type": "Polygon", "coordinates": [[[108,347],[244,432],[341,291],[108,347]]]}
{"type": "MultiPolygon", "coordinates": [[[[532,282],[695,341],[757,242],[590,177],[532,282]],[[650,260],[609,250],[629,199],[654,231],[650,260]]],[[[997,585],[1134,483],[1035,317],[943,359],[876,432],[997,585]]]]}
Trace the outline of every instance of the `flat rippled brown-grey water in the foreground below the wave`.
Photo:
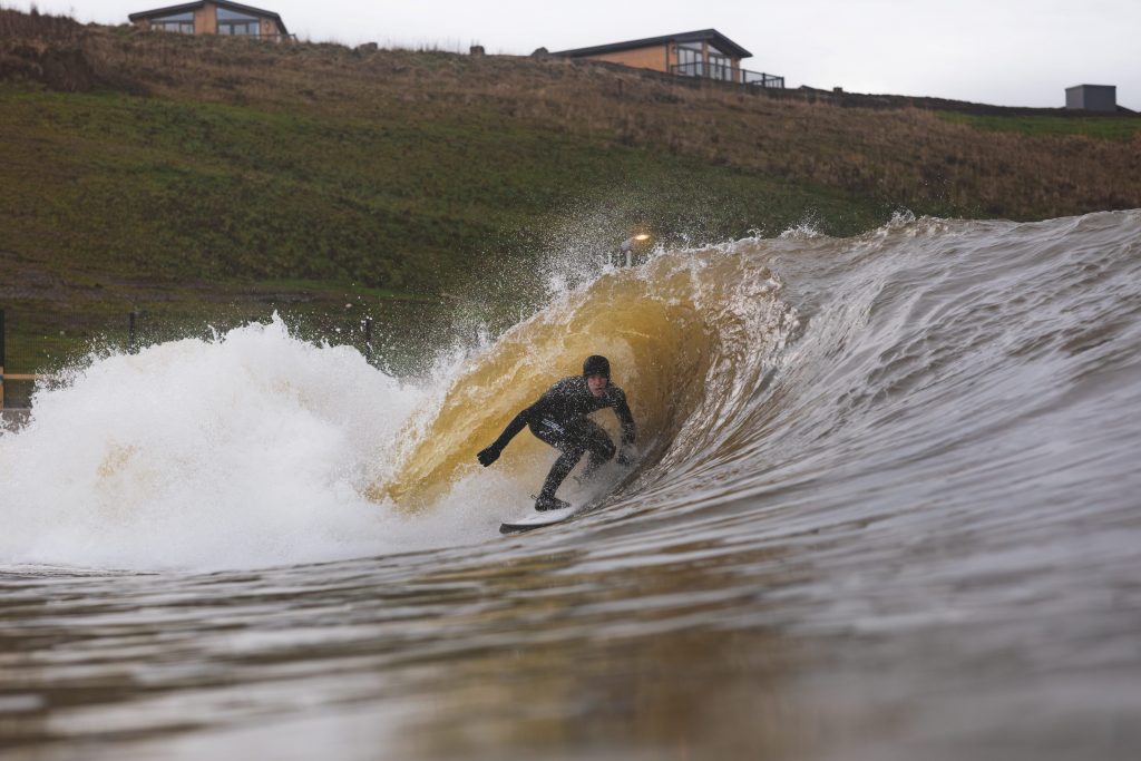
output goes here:
{"type": "Polygon", "coordinates": [[[658,543],[640,562],[521,541],[9,576],[0,731],[14,758],[1125,758],[1138,690],[1114,669],[1135,663],[1141,584],[1100,588],[1092,559],[968,574],[953,550],[924,572],[844,550],[875,531],[658,543]]]}

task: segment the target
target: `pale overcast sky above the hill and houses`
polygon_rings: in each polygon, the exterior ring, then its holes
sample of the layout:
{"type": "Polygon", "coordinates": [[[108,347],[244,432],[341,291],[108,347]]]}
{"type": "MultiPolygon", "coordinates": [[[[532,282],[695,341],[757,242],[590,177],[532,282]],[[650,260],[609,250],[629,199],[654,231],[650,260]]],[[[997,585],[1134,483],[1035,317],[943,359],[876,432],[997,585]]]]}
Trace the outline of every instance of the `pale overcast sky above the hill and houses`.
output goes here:
{"type": "MultiPolygon", "coordinates": [[[[35,0],[119,24],[183,0],[35,0]]],[[[27,10],[30,0],[0,0],[27,10]]],[[[302,40],[527,55],[701,29],[752,51],[787,87],[1057,107],[1074,84],[1116,84],[1141,111],[1141,0],[250,0],[302,40]]]]}

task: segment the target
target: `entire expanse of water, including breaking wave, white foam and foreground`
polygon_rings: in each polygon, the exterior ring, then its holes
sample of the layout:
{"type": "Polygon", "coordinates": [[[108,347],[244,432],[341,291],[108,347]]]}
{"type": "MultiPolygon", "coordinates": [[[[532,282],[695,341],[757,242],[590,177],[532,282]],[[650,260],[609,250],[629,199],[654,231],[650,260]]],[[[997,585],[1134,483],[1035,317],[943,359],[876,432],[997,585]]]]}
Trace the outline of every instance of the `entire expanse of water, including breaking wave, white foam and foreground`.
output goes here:
{"type": "Polygon", "coordinates": [[[1136,756],[1141,212],[589,280],[415,388],[267,326],[38,397],[5,756],[1136,756]],[[591,351],[634,478],[501,537],[551,455],[474,452],[591,351]]]}

